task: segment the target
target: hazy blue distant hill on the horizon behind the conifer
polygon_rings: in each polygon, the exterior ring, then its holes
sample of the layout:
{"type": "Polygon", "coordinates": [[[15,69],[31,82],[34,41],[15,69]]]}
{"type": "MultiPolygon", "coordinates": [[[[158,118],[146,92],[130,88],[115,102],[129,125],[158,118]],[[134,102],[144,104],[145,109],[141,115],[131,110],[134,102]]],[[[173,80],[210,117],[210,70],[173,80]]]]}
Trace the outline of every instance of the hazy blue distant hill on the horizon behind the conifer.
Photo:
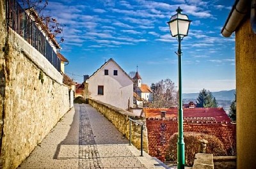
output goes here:
{"type": "MultiPolygon", "coordinates": [[[[232,101],[235,98],[234,92],[236,92],[235,89],[230,90],[230,91],[212,92],[212,95],[217,100],[232,101]]],[[[182,98],[183,99],[196,99],[196,98],[198,98],[198,94],[199,94],[199,92],[196,92],[196,93],[183,93],[182,94],[182,98]]]]}

